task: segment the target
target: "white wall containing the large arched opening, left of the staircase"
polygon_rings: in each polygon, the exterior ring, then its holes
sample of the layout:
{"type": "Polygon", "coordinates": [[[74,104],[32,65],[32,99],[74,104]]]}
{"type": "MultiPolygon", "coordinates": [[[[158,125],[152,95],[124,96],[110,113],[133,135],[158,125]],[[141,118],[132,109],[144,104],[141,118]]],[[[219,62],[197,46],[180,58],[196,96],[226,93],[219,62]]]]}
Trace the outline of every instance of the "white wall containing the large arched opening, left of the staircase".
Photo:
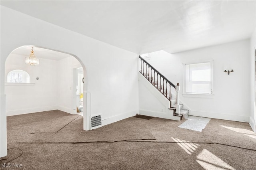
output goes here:
{"type": "MultiPolygon", "coordinates": [[[[78,56],[87,72],[86,101],[90,115],[102,114],[103,125],[138,113],[138,56],[135,53],[88,38],[59,26],[1,6],[1,148],[7,154],[4,63],[23,45],[37,45],[78,56]]],[[[84,125],[89,128],[88,115],[84,125]]],[[[84,127],[85,128],[85,127],[84,127]]]]}

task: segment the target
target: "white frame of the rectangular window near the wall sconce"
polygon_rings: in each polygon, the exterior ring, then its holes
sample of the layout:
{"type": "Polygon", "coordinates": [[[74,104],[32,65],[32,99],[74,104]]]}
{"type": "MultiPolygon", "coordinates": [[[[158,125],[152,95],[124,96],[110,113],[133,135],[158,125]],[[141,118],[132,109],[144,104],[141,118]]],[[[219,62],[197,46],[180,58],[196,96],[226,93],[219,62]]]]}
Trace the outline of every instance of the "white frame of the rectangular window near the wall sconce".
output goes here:
{"type": "MultiPolygon", "coordinates": [[[[197,62],[189,62],[189,63],[183,63],[183,93],[182,95],[184,97],[211,97],[214,95],[213,93],[213,72],[214,72],[214,67],[213,67],[213,60],[205,60],[205,61],[197,61],[197,62]],[[210,93],[187,93],[186,92],[186,65],[190,64],[200,64],[200,63],[210,63],[210,93]]],[[[209,81],[200,81],[200,82],[209,82],[209,81]]]]}

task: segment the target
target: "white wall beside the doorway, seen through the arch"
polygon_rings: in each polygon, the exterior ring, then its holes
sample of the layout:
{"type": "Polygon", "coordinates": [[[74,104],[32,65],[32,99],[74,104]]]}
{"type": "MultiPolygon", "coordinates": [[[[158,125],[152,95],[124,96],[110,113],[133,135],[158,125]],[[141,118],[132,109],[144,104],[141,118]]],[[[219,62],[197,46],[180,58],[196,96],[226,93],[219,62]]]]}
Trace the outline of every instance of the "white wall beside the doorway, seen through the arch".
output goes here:
{"type": "Polygon", "coordinates": [[[72,113],[73,94],[73,68],[82,67],[79,61],[73,57],[66,57],[58,61],[58,109],[67,113],[72,113]]]}

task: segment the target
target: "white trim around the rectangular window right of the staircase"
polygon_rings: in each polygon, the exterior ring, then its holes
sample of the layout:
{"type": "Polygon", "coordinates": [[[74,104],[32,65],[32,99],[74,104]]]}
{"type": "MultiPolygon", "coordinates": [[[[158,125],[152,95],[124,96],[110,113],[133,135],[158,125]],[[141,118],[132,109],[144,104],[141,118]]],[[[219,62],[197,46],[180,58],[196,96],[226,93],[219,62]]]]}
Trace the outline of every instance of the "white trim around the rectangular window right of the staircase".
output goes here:
{"type": "Polygon", "coordinates": [[[214,89],[213,89],[213,60],[204,60],[204,61],[198,61],[198,62],[190,62],[190,63],[182,63],[183,65],[183,97],[200,97],[200,98],[212,98],[214,96],[214,89]],[[200,63],[210,63],[211,65],[211,80],[212,80],[212,94],[205,94],[205,93],[186,93],[186,65],[187,64],[200,64],[200,63]]]}

